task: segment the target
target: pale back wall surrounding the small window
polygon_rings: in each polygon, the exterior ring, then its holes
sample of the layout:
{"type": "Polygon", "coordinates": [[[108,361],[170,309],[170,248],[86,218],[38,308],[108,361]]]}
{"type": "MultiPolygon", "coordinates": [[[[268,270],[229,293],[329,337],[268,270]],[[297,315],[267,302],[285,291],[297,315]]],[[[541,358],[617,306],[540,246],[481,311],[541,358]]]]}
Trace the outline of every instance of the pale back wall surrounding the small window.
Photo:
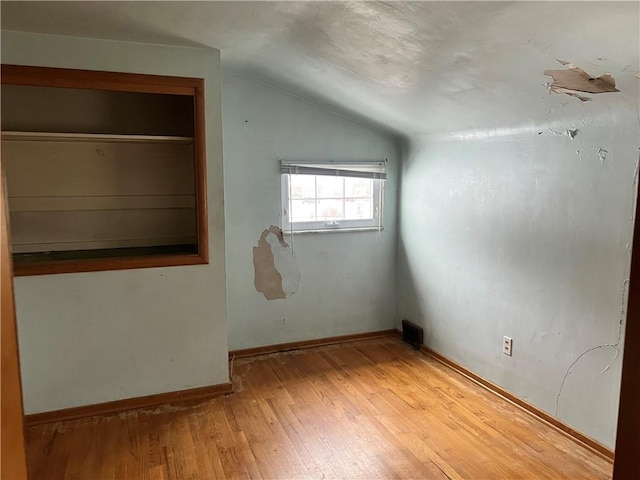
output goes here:
{"type": "Polygon", "coordinates": [[[223,79],[227,305],[231,350],[393,328],[398,151],[389,135],[272,87],[223,79]],[[389,159],[384,231],[297,234],[301,280],[285,300],[254,284],[252,249],[280,225],[278,159],[389,159]]]}

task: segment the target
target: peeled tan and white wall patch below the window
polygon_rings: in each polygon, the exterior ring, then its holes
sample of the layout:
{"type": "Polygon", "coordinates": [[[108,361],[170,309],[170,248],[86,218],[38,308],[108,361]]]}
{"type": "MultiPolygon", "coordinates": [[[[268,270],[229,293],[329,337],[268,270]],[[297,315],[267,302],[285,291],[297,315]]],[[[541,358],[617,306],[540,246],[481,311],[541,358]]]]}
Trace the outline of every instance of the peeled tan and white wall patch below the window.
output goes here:
{"type": "Polygon", "coordinates": [[[254,285],[267,300],[289,298],[298,289],[300,271],[282,230],[271,225],[253,247],[254,285]]]}

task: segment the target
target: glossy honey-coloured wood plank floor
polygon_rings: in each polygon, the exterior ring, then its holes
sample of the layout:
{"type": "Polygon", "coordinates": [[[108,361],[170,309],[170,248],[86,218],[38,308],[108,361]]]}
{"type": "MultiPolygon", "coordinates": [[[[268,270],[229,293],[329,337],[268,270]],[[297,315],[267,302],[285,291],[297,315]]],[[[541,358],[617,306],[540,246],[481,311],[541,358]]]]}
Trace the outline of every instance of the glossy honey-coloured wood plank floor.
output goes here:
{"type": "Polygon", "coordinates": [[[612,466],[395,338],[237,359],[235,393],[28,430],[32,479],[600,479],[612,466]]]}

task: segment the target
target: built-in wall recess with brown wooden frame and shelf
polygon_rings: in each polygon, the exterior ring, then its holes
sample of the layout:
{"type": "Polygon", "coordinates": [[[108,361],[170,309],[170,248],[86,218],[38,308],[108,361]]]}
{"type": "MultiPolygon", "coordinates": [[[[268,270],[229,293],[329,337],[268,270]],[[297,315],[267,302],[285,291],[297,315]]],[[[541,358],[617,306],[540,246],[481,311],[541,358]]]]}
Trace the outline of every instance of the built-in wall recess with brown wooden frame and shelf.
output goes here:
{"type": "Polygon", "coordinates": [[[2,66],[16,275],[208,263],[204,81],[2,66]]]}

